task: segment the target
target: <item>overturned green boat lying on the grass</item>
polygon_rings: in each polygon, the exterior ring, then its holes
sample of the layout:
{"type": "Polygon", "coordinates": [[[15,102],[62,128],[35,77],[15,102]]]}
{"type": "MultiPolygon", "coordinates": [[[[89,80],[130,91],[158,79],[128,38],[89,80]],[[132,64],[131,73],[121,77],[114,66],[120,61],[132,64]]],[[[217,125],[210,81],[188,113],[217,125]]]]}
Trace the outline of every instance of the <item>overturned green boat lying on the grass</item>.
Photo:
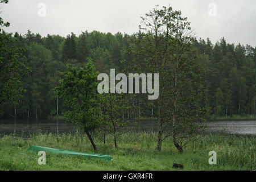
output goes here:
{"type": "Polygon", "coordinates": [[[85,158],[104,159],[104,160],[109,160],[109,161],[112,160],[112,157],[109,155],[90,154],[90,153],[85,153],[85,152],[61,150],[61,149],[41,147],[41,146],[31,146],[30,148],[28,148],[28,151],[35,151],[35,152],[45,151],[45,152],[50,152],[52,154],[81,155],[81,156],[84,156],[85,158]]]}

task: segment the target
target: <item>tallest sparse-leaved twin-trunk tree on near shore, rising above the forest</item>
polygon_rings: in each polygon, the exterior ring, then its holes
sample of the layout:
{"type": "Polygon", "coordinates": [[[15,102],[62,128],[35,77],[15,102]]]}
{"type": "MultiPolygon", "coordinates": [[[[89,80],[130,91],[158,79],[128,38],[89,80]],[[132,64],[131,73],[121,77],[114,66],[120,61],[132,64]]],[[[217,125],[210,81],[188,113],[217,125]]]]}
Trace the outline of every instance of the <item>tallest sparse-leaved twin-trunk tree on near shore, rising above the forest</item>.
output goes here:
{"type": "Polygon", "coordinates": [[[203,120],[204,115],[204,108],[199,104],[201,67],[196,62],[197,52],[192,49],[189,22],[172,7],[160,10],[156,7],[142,18],[140,30],[133,49],[135,60],[139,68],[159,73],[156,149],[160,151],[162,141],[171,135],[175,147],[182,152],[184,144],[201,129],[194,121],[203,120]],[[141,56],[144,61],[139,61],[141,56]],[[170,129],[163,136],[165,124],[170,129]]]}

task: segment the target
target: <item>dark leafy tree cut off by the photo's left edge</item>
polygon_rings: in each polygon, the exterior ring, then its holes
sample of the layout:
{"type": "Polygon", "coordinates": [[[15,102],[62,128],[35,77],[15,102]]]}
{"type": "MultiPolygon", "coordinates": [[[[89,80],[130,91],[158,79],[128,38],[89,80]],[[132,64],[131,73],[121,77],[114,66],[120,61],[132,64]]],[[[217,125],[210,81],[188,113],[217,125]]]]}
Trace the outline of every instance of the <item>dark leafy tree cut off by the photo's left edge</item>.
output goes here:
{"type": "MultiPolygon", "coordinates": [[[[8,3],[1,0],[1,3],[8,3]]],[[[21,79],[28,72],[24,60],[20,59],[18,49],[14,46],[11,34],[6,34],[2,27],[8,27],[10,23],[4,22],[0,17],[0,104],[13,101],[18,104],[25,91],[22,88],[21,79]]]]}

